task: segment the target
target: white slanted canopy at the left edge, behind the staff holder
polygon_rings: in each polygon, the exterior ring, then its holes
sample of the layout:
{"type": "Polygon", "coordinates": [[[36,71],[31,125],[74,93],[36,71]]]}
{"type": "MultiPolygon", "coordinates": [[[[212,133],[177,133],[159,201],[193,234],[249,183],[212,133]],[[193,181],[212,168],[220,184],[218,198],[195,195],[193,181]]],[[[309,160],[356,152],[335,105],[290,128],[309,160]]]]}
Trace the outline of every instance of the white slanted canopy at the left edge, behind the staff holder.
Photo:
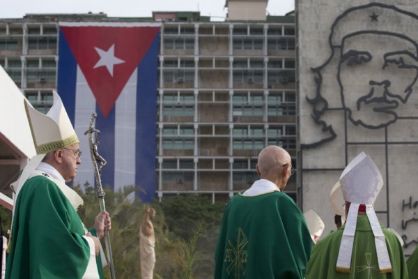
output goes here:
{"type": "MultiPolygon", "coordinates": [[[[36,155],[24,111],[24,96],[15,82],[0,66],[0,192],[11,194],[15,181],[27,160],[36,155]]],[[[7,196],[0,195],[0,204],[10,207],[7,196]]]]}

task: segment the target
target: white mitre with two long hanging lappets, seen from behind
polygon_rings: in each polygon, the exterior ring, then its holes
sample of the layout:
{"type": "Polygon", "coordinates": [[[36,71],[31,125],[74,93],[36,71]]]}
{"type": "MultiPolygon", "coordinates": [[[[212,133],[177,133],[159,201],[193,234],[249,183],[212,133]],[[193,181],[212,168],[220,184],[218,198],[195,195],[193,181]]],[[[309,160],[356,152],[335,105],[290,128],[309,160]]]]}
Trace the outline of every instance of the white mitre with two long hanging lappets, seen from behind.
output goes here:
{"type": "Polygon", "coordinates": [[[366,206],[366,215],[369,218],[369,223],[375,236],[376,255],[380,273],[392,272],[385,235],[373,209],[373,202],[383,186],[382,174],[380,174],[378,167],[366,153],[362,152],[347,165],[341,174],[339,182],[344,200],[351,204],[340,243],[336,271],[350,272],[357,214],[359,205],[364,204],[366,206]]]}

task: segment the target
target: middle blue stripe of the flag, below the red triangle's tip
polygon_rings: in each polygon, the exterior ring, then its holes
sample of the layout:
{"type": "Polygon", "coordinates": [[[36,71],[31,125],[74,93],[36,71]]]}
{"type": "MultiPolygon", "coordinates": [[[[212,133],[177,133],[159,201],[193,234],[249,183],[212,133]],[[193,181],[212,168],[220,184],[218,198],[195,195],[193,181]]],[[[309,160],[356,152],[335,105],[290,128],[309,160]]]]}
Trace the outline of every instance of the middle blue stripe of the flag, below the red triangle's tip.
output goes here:
{"type": "Polygon", "coordinates": [[[114,190],[115,177],[115,106],[111,109],[106,118],[104,118],[100,107],[96,105],[98,114],[95,122],[95,128],[100,130],[98,141],[100,145],[98,150],[100,156],[107,160],[107,164],[102,169],[102,186],[114,190]]]}

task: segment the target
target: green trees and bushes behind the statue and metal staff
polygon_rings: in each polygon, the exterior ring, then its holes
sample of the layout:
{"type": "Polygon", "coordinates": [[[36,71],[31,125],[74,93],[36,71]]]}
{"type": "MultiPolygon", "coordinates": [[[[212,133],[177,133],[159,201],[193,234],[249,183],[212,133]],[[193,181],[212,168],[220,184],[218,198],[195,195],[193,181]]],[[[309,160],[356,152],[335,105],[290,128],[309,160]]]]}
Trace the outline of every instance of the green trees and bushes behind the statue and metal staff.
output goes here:
{"type": "MultiPolygon", "coordinates": [[[[84,199],[79,216],[86,227],[93,227],[100,212],[100,201],[88,184],[77,193],[84,199]]],[[[106,192],[105,206],[111,215],[109,233],[116,278],[141,278],[139,229],[146,204],[133,198],[139,188],[128,187],[114,193],[106,192]]],[[[212,278],[214,255],[219,225],[225,203],[212,204],[199,195],[178,195],[154,201],[156,263],[154,278],[212,278]]],[[[10,228],[11,212],[0,209],[3,231],[10,228]]],[[[105,251],[104,239],[102,246],[105,251]]],[[[105,278],[110,278],[109,268],[104,268],[105,278]]]]}

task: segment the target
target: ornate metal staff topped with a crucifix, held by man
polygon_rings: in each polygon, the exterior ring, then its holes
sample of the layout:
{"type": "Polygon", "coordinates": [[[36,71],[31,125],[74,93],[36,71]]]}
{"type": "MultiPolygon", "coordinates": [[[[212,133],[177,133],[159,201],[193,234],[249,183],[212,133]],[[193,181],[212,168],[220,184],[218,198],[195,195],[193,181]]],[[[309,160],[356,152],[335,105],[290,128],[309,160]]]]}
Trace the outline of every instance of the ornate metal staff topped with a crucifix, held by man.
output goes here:
{"type": "MultiPolygon", "coordinates": [[[[100,144],[98,141],[98,135],[100,134],[100,130],[95,128],[95,118],[98,116],[95,112],[91,114],[90,124],[88,126],[88,130],[84,132],[84,135],[88,134],[88,146],[90,146],[90,156],[91,161],[93,162],[94,168],[94,176],[96,181],[96,196],[100,200],[100,210],[106,211],[106,206],[104,205],[104,193],[102,187],[102,179],[100,178],[100,172],[102,172],[102,167],[106,165],[106,160],[98,153],[98,145],[100,144]],[[99,167],[100,164],[100,167],[99,167]]],[[[106,253],[107,259],[109,260],[109,269],[110,269],[110,276],[112,279],[116,279],[115,276],[115,269],[114,269],[114,262],[113,257],[111,256],[111,247],[110,247],[110,238],[109,238],[109,231],[104,232],[104,243],[106,244],[106,253]]]]}

